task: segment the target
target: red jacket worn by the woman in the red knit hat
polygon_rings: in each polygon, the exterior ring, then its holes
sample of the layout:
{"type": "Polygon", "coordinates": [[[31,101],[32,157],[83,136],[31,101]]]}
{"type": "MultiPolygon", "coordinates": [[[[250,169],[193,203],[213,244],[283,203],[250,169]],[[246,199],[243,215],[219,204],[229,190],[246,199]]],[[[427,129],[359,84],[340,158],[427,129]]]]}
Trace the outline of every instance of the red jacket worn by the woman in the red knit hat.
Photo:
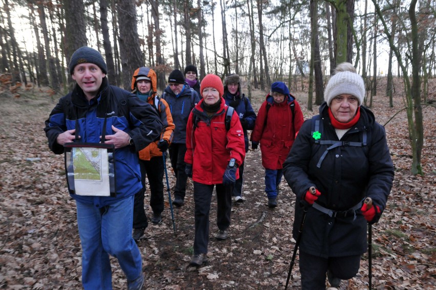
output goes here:
{"type": "Polygon", "coordinates": [[[238,165],[244,161],[244,131],[236,111],[233,112],[230,129],[227,131],[225,104],[225,100],[221,98],[220,109],[209,119],[201,99],[189,115],[186,126],[185,162],[192,164],[193,181],[203,184],[223,183],[224,171],[230,158],[235,158],[238,165]],[[194,115],[199,119],[195,129],[194,115]]]}

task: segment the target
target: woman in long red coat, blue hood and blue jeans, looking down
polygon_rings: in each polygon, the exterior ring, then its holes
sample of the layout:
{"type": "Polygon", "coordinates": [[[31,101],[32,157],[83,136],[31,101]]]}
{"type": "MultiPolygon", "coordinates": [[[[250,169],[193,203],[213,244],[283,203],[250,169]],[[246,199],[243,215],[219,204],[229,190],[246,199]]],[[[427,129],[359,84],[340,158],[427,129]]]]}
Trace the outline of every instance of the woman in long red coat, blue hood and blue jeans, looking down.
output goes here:
{"type": "Polygon", "coordinates": [[[277,187],[283,176],[283,162],[294,143],[295,136],[303,124],[303,113],[294,96],[284,82],[276,81],[271,92],[260,106],[251,147],[257,149],[260,142],[262,165],[265,168],[265,192],[268,206],[277,206],[277,187]]]}

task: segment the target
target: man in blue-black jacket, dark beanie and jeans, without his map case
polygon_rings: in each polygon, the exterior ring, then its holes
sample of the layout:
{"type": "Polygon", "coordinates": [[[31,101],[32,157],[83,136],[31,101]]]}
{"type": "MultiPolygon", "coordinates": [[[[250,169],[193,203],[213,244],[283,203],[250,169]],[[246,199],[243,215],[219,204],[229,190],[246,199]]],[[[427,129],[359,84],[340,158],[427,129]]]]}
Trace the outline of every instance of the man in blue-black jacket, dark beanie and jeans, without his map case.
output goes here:
{"type": "Polygon", "coordinates": [[[102,142],[115,148],[115,197],[70,190],[82,246],[82,285],[112,289],[112,255],[127,277],[127,288],[141,289],[142,258],[132,238],[134,195],[142,189],[137,151],[160,137],[162,123],[148,103],[108,85],[106,64],[98,51],[79,48],[69,69],[76,85],[46,120],[50,149],[62,154],[69,142],[102,142]]]}

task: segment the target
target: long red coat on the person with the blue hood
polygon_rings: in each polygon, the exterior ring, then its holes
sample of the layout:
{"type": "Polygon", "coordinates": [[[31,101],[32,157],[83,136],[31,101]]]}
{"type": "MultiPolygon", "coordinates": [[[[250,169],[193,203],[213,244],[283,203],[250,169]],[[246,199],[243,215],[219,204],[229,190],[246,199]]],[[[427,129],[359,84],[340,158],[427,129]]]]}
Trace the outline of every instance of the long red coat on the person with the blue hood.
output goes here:
{"type": "Polygon", "coordinates": [[[291,95],[276,103],[269,94],[260,106],[251,140],[260,141],[262,166],[266,169],[282,169],[283,162],[291,150],[295,134],[303,124],[303,113],[297,100],[291,95]],[[294,102],[294,123],[290,103],[294,102]],[[269,107],[267,112],[267,104],[269,107]],[[266,119],[266,121],[265,121],[266,119]]]}

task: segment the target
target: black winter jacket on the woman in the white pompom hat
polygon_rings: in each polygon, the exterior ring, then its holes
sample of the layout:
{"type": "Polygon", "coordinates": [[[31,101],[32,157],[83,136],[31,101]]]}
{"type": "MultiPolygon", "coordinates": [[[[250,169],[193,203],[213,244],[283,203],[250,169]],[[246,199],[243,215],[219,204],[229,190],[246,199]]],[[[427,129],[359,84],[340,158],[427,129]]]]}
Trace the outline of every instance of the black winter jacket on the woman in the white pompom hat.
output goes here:
{"type": "MultiPolygon", "coordinates": [[[[325,102],[319,113],[323,122],[321,139],[338,140],[325,102]]],[[[347,211],[359,204],[359,210],[335,218],[309,207],[300,251],[320,257],[363,254],[367,248],[367,222],[360,212],[360,204],[365,197],[371,197],[383,212],[394,180],[384,128],[375,121],[371,111],[361,106],[359,121],[341,141],[362,142],[363,131],[366,131],[367,145],[334,148],[326,154],[320,168],[316,165],[329,145],[315,143],[313,128],[313,119],[303,123],[284,162],[284,176],[297,199],[294,238],[298,237],[303,206],[308,206],[303,196],[315,186],[321,193],[316,202],[324,208],[347,211]]]]}

